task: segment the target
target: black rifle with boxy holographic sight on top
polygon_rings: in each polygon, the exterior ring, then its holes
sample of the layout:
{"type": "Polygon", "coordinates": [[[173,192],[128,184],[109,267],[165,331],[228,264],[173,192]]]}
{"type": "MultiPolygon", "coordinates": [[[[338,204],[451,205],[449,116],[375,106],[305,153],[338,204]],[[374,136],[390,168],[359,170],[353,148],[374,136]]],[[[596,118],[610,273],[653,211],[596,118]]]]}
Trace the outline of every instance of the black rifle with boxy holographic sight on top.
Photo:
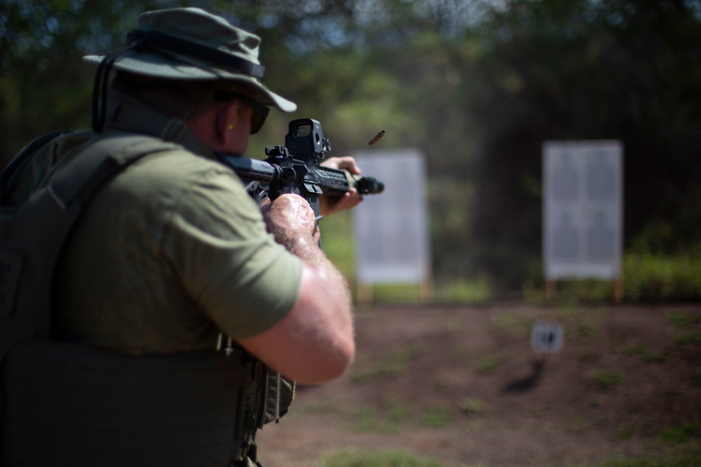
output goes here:
{"type": "Polygon", "coordinates": [[[367,195],[384,189],[383,183],[372,177],[358,179],[347,170],[320,165],[329,151],[331,141],[324,137],[321,124],[311,118],[300,118],[290,122],[285,146],[266,148],[265,160],[224,153],[217,156],[236,171],[258,204],[266,197],[275,200],[285,193],[294,193],[304,197],[320,219],[320,195],[341,197],[351,188],[367,195]]]}

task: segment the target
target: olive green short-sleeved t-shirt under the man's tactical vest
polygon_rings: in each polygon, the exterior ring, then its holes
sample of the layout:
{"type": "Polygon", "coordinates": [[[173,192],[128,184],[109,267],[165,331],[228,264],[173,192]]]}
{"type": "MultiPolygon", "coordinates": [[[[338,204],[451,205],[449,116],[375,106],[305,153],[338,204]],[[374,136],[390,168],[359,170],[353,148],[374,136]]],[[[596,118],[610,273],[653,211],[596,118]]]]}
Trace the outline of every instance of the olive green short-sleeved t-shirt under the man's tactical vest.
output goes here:
{"type": "Polygon", "coordinates": [[[266,232],[231,169],[185,149],[154,153],[84,211],[57,265],[53,328],[134,355],[211,349],[220,332],[278,323],[300,280],[301,260],[266,232]]]}

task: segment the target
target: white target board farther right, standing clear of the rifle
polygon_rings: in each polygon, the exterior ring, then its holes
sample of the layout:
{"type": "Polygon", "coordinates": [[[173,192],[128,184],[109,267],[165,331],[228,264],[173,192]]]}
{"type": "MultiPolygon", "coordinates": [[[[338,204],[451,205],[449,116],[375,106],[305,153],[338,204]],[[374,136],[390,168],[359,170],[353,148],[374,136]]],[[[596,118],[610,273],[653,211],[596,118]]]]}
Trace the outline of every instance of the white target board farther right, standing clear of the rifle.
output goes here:
{"type": "Polygon", "coordinates": [[[545,279],[620,277],[622,193],[620,141],[543,144],[545,279]]]}

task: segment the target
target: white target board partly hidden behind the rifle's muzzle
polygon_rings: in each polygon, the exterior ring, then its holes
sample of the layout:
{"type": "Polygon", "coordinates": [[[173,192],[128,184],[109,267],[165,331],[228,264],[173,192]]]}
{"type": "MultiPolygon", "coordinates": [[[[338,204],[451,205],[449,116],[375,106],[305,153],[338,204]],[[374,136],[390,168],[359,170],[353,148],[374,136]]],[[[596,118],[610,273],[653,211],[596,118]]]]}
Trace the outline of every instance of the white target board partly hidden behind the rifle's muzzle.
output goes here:
{"type": "Polygon", "coordinates": [[[430,277],[425,157],[414,148],[353,154],[362,174],[384,183],[353,209],[360,284],[421,284],[430,277]]]}

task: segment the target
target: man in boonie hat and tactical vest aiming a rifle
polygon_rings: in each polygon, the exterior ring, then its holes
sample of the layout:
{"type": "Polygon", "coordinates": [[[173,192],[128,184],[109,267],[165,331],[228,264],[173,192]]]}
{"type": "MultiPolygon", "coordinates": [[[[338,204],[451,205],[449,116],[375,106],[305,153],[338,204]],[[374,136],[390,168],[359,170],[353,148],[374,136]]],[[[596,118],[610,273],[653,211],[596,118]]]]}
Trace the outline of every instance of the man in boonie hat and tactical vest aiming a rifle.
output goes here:
{"type": "MultiPolygon", "coordinates": [[[[258,46],[198,8],[142,14],[125,46],[86,57],[93,130],[29,145],[0,177],[4,212],[29,219],[0,253],[0,319],[22,324],[0,333],[2,463],[259,465],[255,431],[285,413],[290,380],[353,360],[317,214],[292,193],[261,213],[217,156],[243,155],[270,107],[297,109],[261,82],[258,46]],[[43,209],[79,213],[64,242],[43,209]],[[36,253],[50,241],[55,264],[36,253]]],[[[361,195],[321,199],[325,215],[361,195]]]]}

